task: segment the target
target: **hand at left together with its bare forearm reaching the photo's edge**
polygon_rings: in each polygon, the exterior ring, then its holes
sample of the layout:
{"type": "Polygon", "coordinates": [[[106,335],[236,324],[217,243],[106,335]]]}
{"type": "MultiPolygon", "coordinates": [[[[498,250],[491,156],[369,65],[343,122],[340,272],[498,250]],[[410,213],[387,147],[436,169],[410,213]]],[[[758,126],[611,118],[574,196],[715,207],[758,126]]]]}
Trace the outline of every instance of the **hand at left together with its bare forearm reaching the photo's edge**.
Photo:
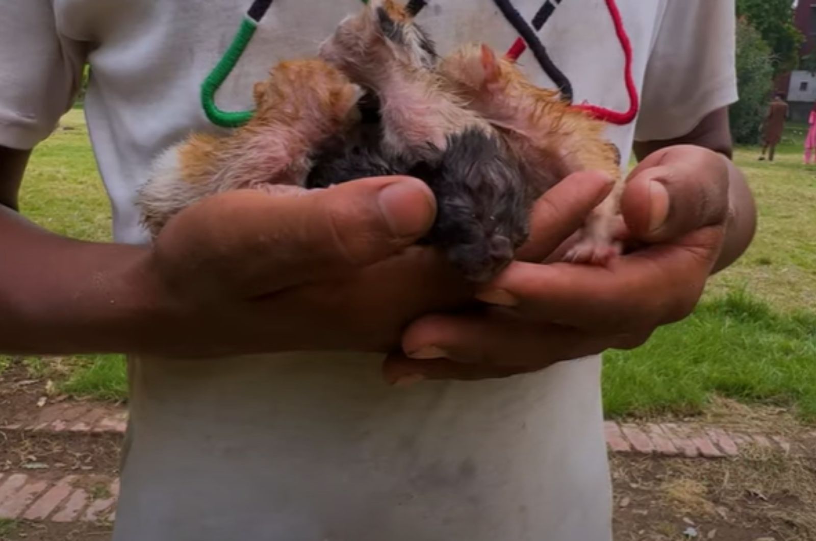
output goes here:
{"type": "Polygon", "coordinates": [[[444,257],[412,246],[435,212],[428,186],[402,177],[241,190],[180,212],[153,248],[0,212],[15,254],[0,270],[0,351],[386,351],[419,315],[472,299],[444,257]]]}

